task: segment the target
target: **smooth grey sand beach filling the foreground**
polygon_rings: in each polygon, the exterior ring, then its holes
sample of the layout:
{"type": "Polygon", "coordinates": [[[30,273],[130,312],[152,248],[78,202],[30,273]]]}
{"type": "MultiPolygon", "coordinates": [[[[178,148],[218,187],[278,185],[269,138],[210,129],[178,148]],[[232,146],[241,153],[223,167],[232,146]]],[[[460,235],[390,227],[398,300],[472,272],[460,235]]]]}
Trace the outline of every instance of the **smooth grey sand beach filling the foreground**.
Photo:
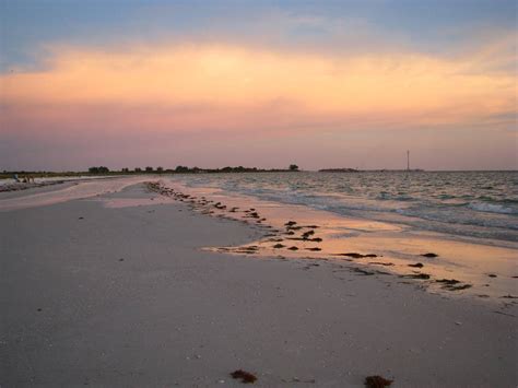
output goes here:
{"type": "Polygon", "coordinates": [[[237,387],[238,368],[262,387],[516,387],[516,305],[201,250],[261,232],[154,197],[0,212],[1,387],[237,387]]]}

